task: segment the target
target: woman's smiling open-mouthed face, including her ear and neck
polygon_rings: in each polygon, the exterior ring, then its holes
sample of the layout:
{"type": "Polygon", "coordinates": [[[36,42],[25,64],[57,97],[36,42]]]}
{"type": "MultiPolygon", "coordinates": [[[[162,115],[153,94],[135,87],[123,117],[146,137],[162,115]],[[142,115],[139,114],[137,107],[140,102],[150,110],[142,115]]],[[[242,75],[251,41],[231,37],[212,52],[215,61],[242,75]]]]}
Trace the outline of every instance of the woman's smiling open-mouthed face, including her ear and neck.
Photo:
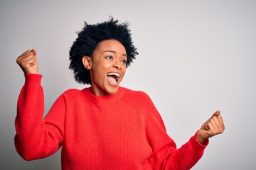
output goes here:
{"type": "Polygon", "coordinates": [[[90,69],[91,90],[96,96],[117,93],[126,71],[127,54],[117,40],[100,42],[92,57],[83,57],[85,68],[90,69]]]}

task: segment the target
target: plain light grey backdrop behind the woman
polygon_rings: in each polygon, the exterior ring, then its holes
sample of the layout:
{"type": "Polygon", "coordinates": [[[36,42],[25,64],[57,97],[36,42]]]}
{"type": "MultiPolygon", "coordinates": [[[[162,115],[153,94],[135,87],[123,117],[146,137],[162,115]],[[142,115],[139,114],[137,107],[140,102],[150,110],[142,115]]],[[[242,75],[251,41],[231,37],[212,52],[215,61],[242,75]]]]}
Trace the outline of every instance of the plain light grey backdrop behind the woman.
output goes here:
{"type": "MultiPolygon", "coordinates": [[[[129,22],[139,55],[122,86],[145,91],[181,147],[217,110],[225,132],[193,169],[256,169],[256,1],[0,1],[0,169],[60,169],[60,152],[24,161],[14,147],[23,72],[36,48],[46,113],[70,88],[68,52],[84,22],[129,22]]],[[[85,160],[86,161],[86,160],[85,160]]]]}

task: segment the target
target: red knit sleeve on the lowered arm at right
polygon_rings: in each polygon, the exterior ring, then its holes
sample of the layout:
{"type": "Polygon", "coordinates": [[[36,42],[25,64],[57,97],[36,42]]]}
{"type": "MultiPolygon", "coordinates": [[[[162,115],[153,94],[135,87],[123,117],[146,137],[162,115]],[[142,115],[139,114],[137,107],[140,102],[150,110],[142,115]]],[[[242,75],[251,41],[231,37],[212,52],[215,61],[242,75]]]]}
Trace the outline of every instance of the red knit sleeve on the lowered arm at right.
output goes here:
{"type": "Polygon", "coordinates": [[[148,96],[144,96],[143,103],[147,103],[146,135],[152,147],[149,164],[153,169],[191,169],[203,156],[208,140],[201,145],[196,135],[190,138],[181,148],[176,148],[174,140],[166,133],[164,122],[148,96]]]}

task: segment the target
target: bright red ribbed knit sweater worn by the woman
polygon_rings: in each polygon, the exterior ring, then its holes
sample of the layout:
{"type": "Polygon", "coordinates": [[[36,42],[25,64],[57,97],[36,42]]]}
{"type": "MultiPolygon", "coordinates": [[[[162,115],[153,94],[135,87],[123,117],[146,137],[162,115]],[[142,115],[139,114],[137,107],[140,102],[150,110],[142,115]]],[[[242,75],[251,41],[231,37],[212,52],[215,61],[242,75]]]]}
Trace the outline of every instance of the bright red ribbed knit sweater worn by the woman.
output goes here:
{"type": "Polygon", "coordinates": [[[26,74],[18,97],[15,146],[26,160],[62,147],[62,169],[191,169],[208,145],[196,135],[176,149],[149,96],[119,87],[94,96],[89,88],[65,91],[43,118],[41,75],[26,74]]]}

